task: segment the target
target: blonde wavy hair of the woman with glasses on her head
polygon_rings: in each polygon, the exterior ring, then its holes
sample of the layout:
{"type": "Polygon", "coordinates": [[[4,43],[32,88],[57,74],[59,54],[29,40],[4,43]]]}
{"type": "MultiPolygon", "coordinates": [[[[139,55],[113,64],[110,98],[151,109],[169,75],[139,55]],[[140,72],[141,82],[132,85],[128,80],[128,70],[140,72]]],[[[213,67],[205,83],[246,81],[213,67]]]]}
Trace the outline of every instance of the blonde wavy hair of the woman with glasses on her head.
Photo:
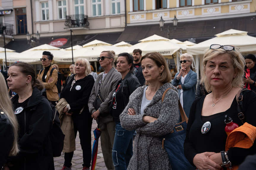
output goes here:
{"type": "Polygon", "coordinates": [[[219,49],[206,49],[204,51],[203,55],[203,73],[202,73],[202,78],[201,78],[201,83],[204,83],[205,89],[207,92],[212,91],[212,87],[209,84],[209,82],[206,80],[206,75],[205,75],[205,67],[207,64],[207,61],[222,54],[229,54],[232,61],[233,61],[233,67],[235,71],[237,72],[237,75],[235,78],[232,80],[232,87],[238,87],[242,88],[244,86],[243,82],[243,76],[244,76],[244,65],[245,65],[245,60],[238,48],[235,47],[235,50],[232,51],[226,51],[222,48],[219,49]]]}

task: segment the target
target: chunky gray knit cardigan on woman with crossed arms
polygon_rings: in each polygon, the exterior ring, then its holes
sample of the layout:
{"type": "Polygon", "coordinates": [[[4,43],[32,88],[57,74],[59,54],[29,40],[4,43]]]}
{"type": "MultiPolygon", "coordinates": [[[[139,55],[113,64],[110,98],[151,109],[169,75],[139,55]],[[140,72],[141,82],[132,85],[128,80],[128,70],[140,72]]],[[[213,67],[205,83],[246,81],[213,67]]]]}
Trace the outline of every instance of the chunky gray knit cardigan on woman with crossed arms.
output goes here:
{"type": "Polygon", "coordinates": [[[128,170],[170,170],[168,154],[162,148],[160,137],[170,133],[179,119],[177,89],[171,83],[162,85],[144,109],[144,114],[141,115],[140,108],[145,87],[137,88],[130,95],[129,103],[120,115],[123,128],[137,131],[128,170]],[[162,103],[163,93],[170,87],[175,90],[168,90],[162,103]],[[136,115],[128,115],[128,108],[133,108],[136,115]],[[152,123],[144,123],[143,116],[152,116],[158,119],[152,123]]]}

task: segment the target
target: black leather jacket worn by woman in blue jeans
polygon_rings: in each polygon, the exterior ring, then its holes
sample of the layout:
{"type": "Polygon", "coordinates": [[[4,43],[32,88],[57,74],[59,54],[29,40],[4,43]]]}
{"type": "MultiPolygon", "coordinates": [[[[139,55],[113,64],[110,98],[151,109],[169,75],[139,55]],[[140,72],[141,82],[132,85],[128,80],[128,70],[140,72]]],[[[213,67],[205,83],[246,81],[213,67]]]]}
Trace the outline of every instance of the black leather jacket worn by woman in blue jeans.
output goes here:
{"type": "MultiPolygon", "coordinates": [[[[123,110],[125,109],[126,105],[129,102],[129,97],[131,95],[131,93],[133,93],[134,90],[136,90],[136,88],[138,88],[139,86],[141,86],[138,78],[133,75],[131,72],[128,72],[127,75],[125,76],[125,78],[123,80],[120,80],[117,83],[116,89],[118,87],[118,85],[120,84],[120,82],[122,83],[122,98],[117,98],[116,100],[118,101],[117,104],[122,105],[122,111],[120,112],[116,112],[112,110],[112,116],[115,122],[120,122],[119,116],[120,114],[123,112],[123,110]]],[[[112,104],[113,104],[113,99],[112,99],[112,104]]]]}

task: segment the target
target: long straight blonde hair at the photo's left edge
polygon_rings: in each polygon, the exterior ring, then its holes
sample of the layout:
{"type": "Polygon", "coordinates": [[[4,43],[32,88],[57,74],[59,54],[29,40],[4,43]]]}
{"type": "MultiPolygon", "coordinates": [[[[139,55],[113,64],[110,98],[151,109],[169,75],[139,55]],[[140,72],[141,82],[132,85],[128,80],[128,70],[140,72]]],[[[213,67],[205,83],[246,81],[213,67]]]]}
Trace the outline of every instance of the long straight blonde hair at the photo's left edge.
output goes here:
{"type": "MultiPolygon", "coordinates": [[[[19,152],[18,149],[18,122],[16,119],[15,114],[12,110],[12,102],[10,100],[6,82],[4,80],[4,76],[0,74],[0,94],[1,99],[0,100],[0,109],[4,112],[4,114],[7,116],[7,119],[9,119],[11,125],[12,125],[12,134],[13,134],[13,143],[12,143],[12,149],[10,150],[9,156],[15,156],[19,152]]],[[[10,132],[11,133],[11,132],[10,132]]],[[[4,140],[4,139],[1,139],[4,140]]]]}

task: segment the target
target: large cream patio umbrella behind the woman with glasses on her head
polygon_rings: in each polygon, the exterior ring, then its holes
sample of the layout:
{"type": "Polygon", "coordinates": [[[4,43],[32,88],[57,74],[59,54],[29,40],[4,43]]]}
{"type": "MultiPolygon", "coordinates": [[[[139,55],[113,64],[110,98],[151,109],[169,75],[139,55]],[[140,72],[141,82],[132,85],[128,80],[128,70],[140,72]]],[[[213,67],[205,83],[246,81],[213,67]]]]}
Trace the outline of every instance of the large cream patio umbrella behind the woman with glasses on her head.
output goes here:
{"type": "Polygon", "coordinates": [[[256,51],[256,38],[247,35],[246,31],[230,29],[215,36],[212,39],[187,47],[187,52],[192,55],[203,54],[204,50],[210,48],[212,44],[236,46],[241,53],[256,51]]]}

